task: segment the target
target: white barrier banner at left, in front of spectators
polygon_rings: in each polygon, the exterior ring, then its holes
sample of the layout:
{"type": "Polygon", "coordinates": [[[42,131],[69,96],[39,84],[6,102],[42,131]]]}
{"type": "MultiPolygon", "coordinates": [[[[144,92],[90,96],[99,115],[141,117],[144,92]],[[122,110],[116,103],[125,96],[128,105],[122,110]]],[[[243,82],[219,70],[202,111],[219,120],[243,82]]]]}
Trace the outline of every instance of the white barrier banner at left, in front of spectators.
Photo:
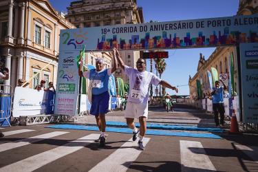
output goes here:
{"type": "Polygon", "coordinates": [[[16,87],[14,90],[14,101],[12,116],[34,116],[44,114],[47,105],[47,92],[36,89],[16,87]]]}

